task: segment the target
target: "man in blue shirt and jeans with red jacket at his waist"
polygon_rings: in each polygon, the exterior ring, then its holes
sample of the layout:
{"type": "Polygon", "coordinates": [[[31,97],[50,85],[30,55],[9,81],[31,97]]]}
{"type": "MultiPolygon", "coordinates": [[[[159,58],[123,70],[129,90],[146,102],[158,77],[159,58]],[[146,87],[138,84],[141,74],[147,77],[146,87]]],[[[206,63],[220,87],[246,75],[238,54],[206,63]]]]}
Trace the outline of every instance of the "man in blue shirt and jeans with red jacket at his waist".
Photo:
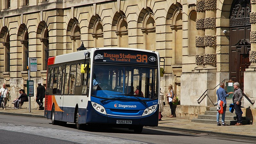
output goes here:
{"type": "Polygon", "coordinates": [[[221,116],[221,124],[220,124],[220,113],[217,111],[217,126],[228,126],[228,124],[225,123],[225,114],[226,114],[226,109],[227,109],[227,100],[226,98],[229,96],[229,94],[233,92],[226,93],[224,90],[225,84],[220,83],[220,88],[216,91],[216,94],[218,96],[218,101],[221,100],[223,101],[223,114],[221,116]]]}

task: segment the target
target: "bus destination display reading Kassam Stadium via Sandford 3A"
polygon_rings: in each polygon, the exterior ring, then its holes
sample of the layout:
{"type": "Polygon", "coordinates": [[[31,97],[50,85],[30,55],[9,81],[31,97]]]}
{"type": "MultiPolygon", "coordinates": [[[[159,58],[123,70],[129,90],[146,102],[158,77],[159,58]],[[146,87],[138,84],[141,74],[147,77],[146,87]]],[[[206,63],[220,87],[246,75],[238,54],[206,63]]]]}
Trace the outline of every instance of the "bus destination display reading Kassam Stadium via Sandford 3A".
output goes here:
{"type": "Polygon", "coordinates": [[[120,62],[157,65],[156,54],[129,50],[95,51],[94,62],[120,62]]]}

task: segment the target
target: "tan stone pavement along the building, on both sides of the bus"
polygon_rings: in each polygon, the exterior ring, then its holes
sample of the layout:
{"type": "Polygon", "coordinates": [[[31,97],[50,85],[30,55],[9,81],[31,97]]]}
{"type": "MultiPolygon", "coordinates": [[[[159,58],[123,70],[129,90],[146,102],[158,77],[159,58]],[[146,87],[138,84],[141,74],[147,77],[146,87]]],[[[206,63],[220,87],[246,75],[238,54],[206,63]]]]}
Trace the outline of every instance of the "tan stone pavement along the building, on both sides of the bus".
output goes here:
{"type": "MultiPolygon", "coordinates": [[[[0,114],[16,115],[16,116],[34,116],[44,117],[44,110],[31,109],[12,109],[7,110],[0,109],[0,114]]],[[[182,132],[193,132],[193,133],[208,133],[215,135],[225,135],[236,138],[248,138],[256,139],[256,125],[229,125],[229,126],[217,126],[217,124],[204,124],[191,122],[188,119],[180,119],[177,117],[169,118],[163,117],[162,121],[159,121],[157,127],[149,127],[163,130],[174,130],[182,132]]]]}

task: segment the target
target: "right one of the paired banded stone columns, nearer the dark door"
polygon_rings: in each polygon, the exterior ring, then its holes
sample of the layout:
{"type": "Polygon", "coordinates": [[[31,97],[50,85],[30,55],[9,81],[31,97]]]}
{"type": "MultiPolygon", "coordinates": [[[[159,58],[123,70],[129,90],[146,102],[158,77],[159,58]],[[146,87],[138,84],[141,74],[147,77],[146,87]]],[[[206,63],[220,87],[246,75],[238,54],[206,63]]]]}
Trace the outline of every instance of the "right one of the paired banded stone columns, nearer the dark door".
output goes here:
{"type": "Polygon", "coordinates": [[[204,2],[204,68],[217,70],[216,68],[216,0],[205,0],[204,2]]]}

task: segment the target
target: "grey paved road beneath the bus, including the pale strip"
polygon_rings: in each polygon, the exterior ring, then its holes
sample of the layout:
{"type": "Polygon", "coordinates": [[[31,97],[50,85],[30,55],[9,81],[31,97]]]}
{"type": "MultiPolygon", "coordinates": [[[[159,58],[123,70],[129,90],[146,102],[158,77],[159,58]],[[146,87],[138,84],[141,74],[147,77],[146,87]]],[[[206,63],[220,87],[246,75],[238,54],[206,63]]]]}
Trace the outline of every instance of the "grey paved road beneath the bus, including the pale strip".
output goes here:
{"type": "Polygon", "coordinates": [[[81,131],[76,130],[75,124],[71,123],[66,126],[52,125],[51,121],[45,118],[8,115],[0,115],[0,132],[7,134],[7,136],[0,135],[0,139],[4,140],[3,143],[255,143],[255,140],[233,140],[205,133],[196,134],[149,128],[144,128],[141,134],[135,134],[128,129],[102,127],[81,131]]]}

